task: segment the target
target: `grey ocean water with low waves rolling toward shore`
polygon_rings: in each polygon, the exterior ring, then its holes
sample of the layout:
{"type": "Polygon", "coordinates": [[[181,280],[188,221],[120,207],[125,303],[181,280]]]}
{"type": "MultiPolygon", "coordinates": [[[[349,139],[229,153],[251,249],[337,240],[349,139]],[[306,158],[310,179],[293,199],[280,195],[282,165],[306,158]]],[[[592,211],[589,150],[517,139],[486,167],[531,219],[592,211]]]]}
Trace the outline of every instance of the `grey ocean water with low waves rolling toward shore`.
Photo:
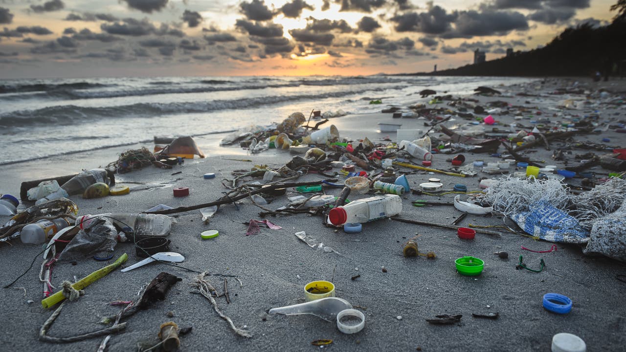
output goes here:
{"type": "Polygon", "coordinates": [[[0,165],[153,136],[204,135],[280,122],[295,111],[349,113],[408,106],[418,92],[470,94],[528,78],[248,76],[0,80],[0,165]],[[382,98],[382,105],[370,105],[382,98]]]}

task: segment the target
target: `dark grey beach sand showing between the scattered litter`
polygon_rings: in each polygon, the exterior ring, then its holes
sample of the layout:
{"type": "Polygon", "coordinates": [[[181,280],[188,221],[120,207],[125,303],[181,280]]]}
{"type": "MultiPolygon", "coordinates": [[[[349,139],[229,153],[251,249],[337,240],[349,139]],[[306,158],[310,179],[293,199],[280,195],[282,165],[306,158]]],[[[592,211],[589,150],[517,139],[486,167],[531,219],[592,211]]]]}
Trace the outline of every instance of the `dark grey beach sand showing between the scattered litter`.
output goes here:
{"type": "MultiPolygon", "coordinates": [[[[586,79],[579,79],[586,81],[586,79]]],[[[503,100],[514,105],[536,106],[545,113],[552,110],[563,96],[547,95],[555,88],[571,85],[573,80],[549,80],[545,84],[533,83],[529,88],[513,86],[495,87],[511,94],[510,97],[477,97],[482,102],[503,100]],[[527,89],[540,97],[515,96],[517,91],[527,89]],[[525,103],[530,101],[530,103],[525,103]]],[[[603,83],[609,90],[625,91],[623,81],[603,83]]],[[[595,87],[594,87],[595,88],[595,87]]],[[[623,93],[622,93],[623,95],[623,93]]],[[[442,106],[444,106],[442,104],[442,106]]],[[[383,106],[384,107],[384,106],[383,106]]],[[[588,110],[579,110],[585,115],[588,110]]],[[[625,118],[623,110],[601,105],[598,108],[602,120],[617,123],[625,118]]],[[[543,115],[546,116],[546,115],[543,115]]],[[[500,126],[513,122],[513,116],[498,115],[500,126]]],[[[464,120],[458,120],[465,123],[464,120]]],[[[351,115],[334,118],[342,137],[351,139],[368,137],[374,143],[389,136],[395,140],[395,133],[376,131],[376,123],[398,122],[403,128],[424,127],[424,120],[414,118],[393,119],[391,114],[351,115]]],[[[327,123],[327,125],[329,124],[327,123]]],[[[521,121],[530,125],[528,120],[521,121]]],[[[270,149],[257,155],[248,155],[239,147],[218,147],[223,135],[208,135],[195,138],[207,154],[207,158],[186,160],[182,167],[161,170],[146,167],[142,170],[116,175],[118,184],[136,185],[135,182],[162,182],[164,187],[136,190],[129,195],[105,197],[101,199],[81,199],[71,197],[80,207],[80,214],[101,214],[105,212],[141,212],[157,204],[172,207],[211,202],[222,197],[225,188],[220,184],[224,178],[232,178],[233,170],[249,169],[254,165],[267,164],[280,167],[289,161],[291,155],[270,149]],[[252,162],[227,160],[227,158],[250,159],[252,162]],[[174,172],[182,173],[172,175],[174,172]],[[212,180],[203,179],[203,174],[215,172],[212,180]],[[171,182],[170,182],[171,181],[171,182]],[[170,183],[165,183],[170,182],[170,183]],[[172,196],[173,187],[190,187],[188,197],[172,196]]],[[[610,138],[610,145],[623,147],[626,140],[623,134],[611,130],[602,135],[580,135],[575,140],[588,140],[601,143],[602,138],[610,138]]],[[[556,148],[563,143],[553,143],[556,148]]],[[[109,148],[87,153],[63,155],[49,160],[8,165],[0,170],[0,192],[19,193],[19,184],[24,180],[67,175],[81,168],[105,166],[116,160],[126,149],[109,148]]],[[[151,148],[151,145],[146,145],[151,148]]],[[[563,166],[552,160],[552,151],[534,148],[530,153],[535,160],[545,160],[546,164],[563,166]]],[[[499,152],[504,148],[500,147],[499,152]]],[[[575,154],[585,150],[575,150],[575,154]]],[[[500,158],[489,154],[464,153],[466,163],[474,160],[495,162],[500,158]]],[[[452,155],[436,154],[433,167],[447,169],[451,165],[446,159],[452,155]]],[[[566,155],[573,161],[573,154],[566,155]]],[[[510,168],[511,172],[514,168],[510,168]]],[[[606,173],[600,168],[598,173],[606,173]]],[[[407,172],[407,169],[401,169],[407,172]]],[[[418,189],[418,184],[429,177],[437,177],[444,189],[454,184],[466,184],[468,190],[477,190],[480,177],[459,178],[448,175],[431,175],[416,172],[407,175],[409,184],[418,189]]],[[[314,173],[301,177],[299,181],[320,180],[314,173]]],[[[339,194],[340,189],[327,189],[329,194],[339,194]]],[[[357,199],[359,195],[351,195],[357,199]]],[[[411,200],[443,200],[451,202],[454,195],[427,197],[406,194],[403,196],[401,217],[427,222],[451,223],[461,212],[454,207],[412,207],[411,200]]],[[[287,203],[284,197],[274,200],[268,207],[276,209],[287,203]]],[[[247,329],[253,338],[242,338],[228,328],[228,324],[217,316],[210,302],[198,294],[190,293],[188,286],[195,272],[166,266],[160,263],[135,269],[130,272],[111,272],[108,276],[85,289],[85,296],[68,303],[50,329],[51,336],[71,336],[100,329],[101,318],[116,314],[119,306],[108,306],[112,301],[136,299],[141,287],[151,281],[159,272],[170,272],[182,278],[168,293],[165,301],[146,311],[126,319],[127,328],[122,333],[113,334],[109,351],[136,350],[137,343],[148,345],[158,342],[156,334],[159,326],[167,321],[175,321],[184,328],[192,326],[190,334],[181,337],[183,351],[310,351],[316,339],[332,339],[326,348],[336,351],[548,351],[552,336],[556,333],[572,333],[587,343],[588,351],[623,351],[626,344],[626,308],[623,297],[626,284],[616,279],[618,274],[626,274],[623,263],[604,257],[585,257],[578,246],[557,244],[558,251],[552,253],[532,253],[521,251],[525,246],[537,251],[550,249],[550,242],[535,241],[527,237],[503,232],[501,237],[476,234],[473,241],[462,241],[453,230],[377,220],[363,224],[359,234],[346,234],[341,229],[335,231],[322,225],[320,217],[290,215],[269,217],[269,220],[282,226],[281,230],[262,228],[256,236],[245,236],[250,219],[259,218],[260,209],[242,200],[238,207],[222,205],[210,224],[202,223],[199,210],[176,214],[177,224],[172,226],[169,239],[170,250],[180,252],[186,260],[182,266],[208,271],[210,274],[236,275],[243,286],[235,279],[228,280],[231,303],[218,298],[218,306],[232,318],[236,326],[247,329]],[[208,229],[219,230],[215,239],[202,240],[200,232],[208,229]],[[331,246],[336,252],[311,249],[294,236],[295,232],[305,231],[308,235],[331,246]],[[424,257],[404,258],[402,248],[407,239],[420,234],[420,251],[433,251],[436,259],[424,257]],[[509,258],[499,259],[497,251],[507,251],[509,258]],[[471,255],[485,261],[485,271],[478,277],[460,276],[454,269],[454,259],[471,255]],[[518,257],[538,269],[540,259],[546,263],[541,273],[516,270],[518,257]],[[382,271],[386,268],[386,272],[382,271]],[[358,279],[351,277],[361,275],[358,279]],[[337,297],[349,301],[366,316],[365,328],[357,334],[342,334],[336,324],[315,316],[270,316],[270,308],[301,303],[304,301],[304,285],[307,282],[325,279],[334,282],[337,297]],[[543,294],[557,292],[565,294],[573,301],[572,312],[566,315],[549,313],[541,306],[543,294]],[[167,316],[171,312],[173,317],[167,316]],[[473,318],[471,313],[499,313],[500,318],[473,318]],[[437,314],[463,314],[460,324],[450,326],[431,325],[425,319],[437,314]]],[[[1,218],[3,222],[6,217],[1,218]]],[[[460,225],[501,225],[503,220],[497,215],[468,215],[460,225]]],[[[41,251],[40,246],[24,245],[19,239],[13,246],[3,244],[3,282],[13,279],[28,268],[33,257],[41,251]]],[[[128,253],[127,265],[137,261],[131,243],[116,246],[115,258],[128,253]]],[[[59,262],[54,267],[52,282],[73,277],[80,279],[107,263],[93,259],[79,261],[76,266],[59,262]]],[[[34,262],[33,269],[13,285],[14,289],[4,289],[4,299],[0,312],[4,318],[0,328],[0,341],[3,348],[10,351],[95,351],[101,338],[89,339],[71,344],[49,344],[38,341],[41,324],[48,319],[51,310],[44,310],[39,304],[42,284],[38,281],[41,259],[34,262]],[[24,287],[23,289],[15,289],[24,287]],[[34,303],[28,304],[28,300],[34,303]]],[[[223,291],[223,277],[208,276],[218,292],[223,291]]],[[[326,349],[324,348],[324,349],[326,349]]]]}

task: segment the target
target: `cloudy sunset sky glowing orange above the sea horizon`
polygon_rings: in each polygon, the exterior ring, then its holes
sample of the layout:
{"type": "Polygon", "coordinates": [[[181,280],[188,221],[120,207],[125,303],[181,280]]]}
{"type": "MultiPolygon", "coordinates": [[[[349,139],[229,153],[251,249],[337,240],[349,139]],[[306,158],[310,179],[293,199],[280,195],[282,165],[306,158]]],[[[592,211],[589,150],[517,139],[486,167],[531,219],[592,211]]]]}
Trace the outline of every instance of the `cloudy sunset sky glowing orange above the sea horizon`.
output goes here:
{"type": "Polygon", "coordinates": [[[616,0],[0,0],[0,79],[439,70],[606,24],[616,0]]]}

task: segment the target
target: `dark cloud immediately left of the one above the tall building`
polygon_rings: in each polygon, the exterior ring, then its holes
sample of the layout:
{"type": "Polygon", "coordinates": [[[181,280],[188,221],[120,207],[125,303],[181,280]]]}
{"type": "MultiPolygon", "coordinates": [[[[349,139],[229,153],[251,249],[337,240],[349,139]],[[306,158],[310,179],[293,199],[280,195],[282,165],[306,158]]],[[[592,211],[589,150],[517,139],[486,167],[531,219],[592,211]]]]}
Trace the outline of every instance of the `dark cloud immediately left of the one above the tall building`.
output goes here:
{"type": "Polygon", "coordinates": [[[441,34],[451,30],[451,24],[456,20],[457,14],[446,13],[439,6],[431,6],[424,13],[404,13],[392,17],[390,20],[396,23],[398,32],[421,32],[426,34],[441,34]]]}

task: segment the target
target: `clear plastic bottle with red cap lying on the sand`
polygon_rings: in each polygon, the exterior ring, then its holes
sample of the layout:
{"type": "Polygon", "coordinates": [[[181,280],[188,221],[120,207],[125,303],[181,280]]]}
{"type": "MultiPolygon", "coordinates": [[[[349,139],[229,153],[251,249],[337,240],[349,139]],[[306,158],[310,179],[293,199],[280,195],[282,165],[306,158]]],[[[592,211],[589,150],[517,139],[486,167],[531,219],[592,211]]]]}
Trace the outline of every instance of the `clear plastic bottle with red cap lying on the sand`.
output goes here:
{"type": "Polygon", "coordinates": [[[369,222],[400,214],[401,211],[402,199],[395,194],[385,194],[352,200],[349,204],[333,208],[329,220],[333,225],[369,222]]]}

